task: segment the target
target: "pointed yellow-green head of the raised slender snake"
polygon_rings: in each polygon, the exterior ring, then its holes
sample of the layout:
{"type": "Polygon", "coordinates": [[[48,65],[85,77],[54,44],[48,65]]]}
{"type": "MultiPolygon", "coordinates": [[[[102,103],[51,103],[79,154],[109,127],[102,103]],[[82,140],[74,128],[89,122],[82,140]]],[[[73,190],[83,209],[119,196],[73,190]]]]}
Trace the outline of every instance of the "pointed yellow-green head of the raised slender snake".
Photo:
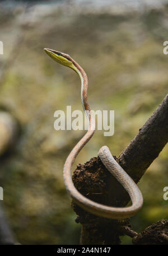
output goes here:
{"type": "Polygon", "coordinates": [[[74,71],[76,71],[76,67],[73,64],[73,59],[68,54],[58,52],[57,50],[52,50],[52,49],[48,49],[48,48],[44,48],[44,50],[49,55],[49,57],[54,59],[59,64],[62,64],[63,66],[67,66],[69,68],[72,68],[72,69],[74,69],[74,71]]]}

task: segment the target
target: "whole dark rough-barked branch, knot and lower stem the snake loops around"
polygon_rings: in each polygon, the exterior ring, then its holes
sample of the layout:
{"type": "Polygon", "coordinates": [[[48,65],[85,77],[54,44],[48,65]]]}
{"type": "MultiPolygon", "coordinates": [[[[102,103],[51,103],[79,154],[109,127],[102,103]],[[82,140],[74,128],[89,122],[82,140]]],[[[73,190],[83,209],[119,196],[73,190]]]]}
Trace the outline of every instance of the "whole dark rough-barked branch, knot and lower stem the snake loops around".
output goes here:
{"type": "MultiPolygon", "coordinates": [[[[168,95],[116,161],[138,183],[167,141],[168,95]]],[[[128,193],[112,175],[109,175],[99,157],[94,157],[85,165],[78,165],[72,179],[76,188],[84,196],[96,202],[121,207],[126,206],[130,200],[128,193]]],[[[91,215],[74,203],[72,207],[78,215],[76,221],[82,224],[81,244],[120,243],[121,228],[119,226],[129,225],[128,220],[108,220],[91,215]]]]}

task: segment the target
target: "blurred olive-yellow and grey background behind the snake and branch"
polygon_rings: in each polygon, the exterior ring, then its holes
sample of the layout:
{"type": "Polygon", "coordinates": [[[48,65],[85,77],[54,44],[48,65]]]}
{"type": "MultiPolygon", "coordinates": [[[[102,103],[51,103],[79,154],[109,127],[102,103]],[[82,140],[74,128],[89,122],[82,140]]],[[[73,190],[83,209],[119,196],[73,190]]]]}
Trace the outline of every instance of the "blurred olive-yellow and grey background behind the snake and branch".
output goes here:
{"type": "MultiPolygon", "coordinates": [[[[15,147],[1,156],[4,208],[21,244],[78,244],[63,184],[63,164],[85,131],[55,131],[54,112],[82,110],[80,80],[43,48],[68,53],[85,69],[94,110],[115,110],[115,132],[97,131],[76,165],[108,145],[113,155],[136,136],[167,94],[168,1],[1,1],[0,110],[20,126],[15,147]]],[[[139,182],[144,206],[132,218],[142,231],[168,217],[168,147],[139,182]]],[[[129,244],[125,236],[123,244],[129,244]]]]}

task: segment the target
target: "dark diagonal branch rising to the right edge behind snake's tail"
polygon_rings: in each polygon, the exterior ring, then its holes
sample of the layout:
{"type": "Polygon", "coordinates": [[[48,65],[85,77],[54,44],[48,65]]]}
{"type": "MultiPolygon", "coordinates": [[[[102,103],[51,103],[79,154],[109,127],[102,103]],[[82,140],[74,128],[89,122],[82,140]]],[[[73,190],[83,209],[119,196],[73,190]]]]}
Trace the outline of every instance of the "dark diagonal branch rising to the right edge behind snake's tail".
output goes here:
{"type": "MultiPolygon", "coordinates": [[[[168,94],[156,111],[147,120],[129,146],[120,154],[117,161],[120,166],[138,183],[153,160],[159,155],[168,141],[168,94]]],[[[117,206],[125,206],[129,202],[128,193],[113,177],[110,197],[117,206]],[[117,192],[117,193],[116,193],[117,192]]]]}

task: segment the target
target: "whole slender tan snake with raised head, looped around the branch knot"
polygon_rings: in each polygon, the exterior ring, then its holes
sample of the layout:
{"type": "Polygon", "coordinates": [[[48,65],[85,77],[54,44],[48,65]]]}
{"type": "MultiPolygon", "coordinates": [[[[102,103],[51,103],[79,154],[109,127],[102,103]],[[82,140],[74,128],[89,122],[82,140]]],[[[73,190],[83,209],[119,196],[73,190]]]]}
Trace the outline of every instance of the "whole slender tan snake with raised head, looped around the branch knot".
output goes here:
{"type": "Polygon", "coordinates": [[[71,151],[71,153],[69,153],[67,160],[64,164],[63,178],[68,193],[72,197],[73,201],[77,203],[80,207],[97,216],[120,219],[128,218],[135,215],[141,209],[143,204],[142,193],[137,187],[136,183],[134,183],[132,178],[130,178],[130,176],[123,170],[118,162],[115,161],[107,146],[103,146],[100,148],[99,157],[102,163],[105,165],[106,169],[108,169],[110,173],[113,174],[114,177],[119,181],[119,183],[123,185],[125,190],[127,190],[132,201],[132,205],[128,207],[105,206],[104,204],[96,203],[86,198],[74,187],[71,178],[73,162],[83,146],[85,146],[85,144],[90,140],[95,132],[95,118],[94,115],[92,115],[92,111],[90,109],[90,105],[88,104],[87,99],[88,79],[83,68],[74,59],[72,59],[70,55],[48,48],[44,48],[44,50],[56,62],[62,64],[63,66],[72,68],[80,76],[81,101],[83,110],[85,111],[86,117],[89,122],[87,133],[85,134],[85,136],[82,137],[77,145],[74,146],[73,150],[71,151]]]}

